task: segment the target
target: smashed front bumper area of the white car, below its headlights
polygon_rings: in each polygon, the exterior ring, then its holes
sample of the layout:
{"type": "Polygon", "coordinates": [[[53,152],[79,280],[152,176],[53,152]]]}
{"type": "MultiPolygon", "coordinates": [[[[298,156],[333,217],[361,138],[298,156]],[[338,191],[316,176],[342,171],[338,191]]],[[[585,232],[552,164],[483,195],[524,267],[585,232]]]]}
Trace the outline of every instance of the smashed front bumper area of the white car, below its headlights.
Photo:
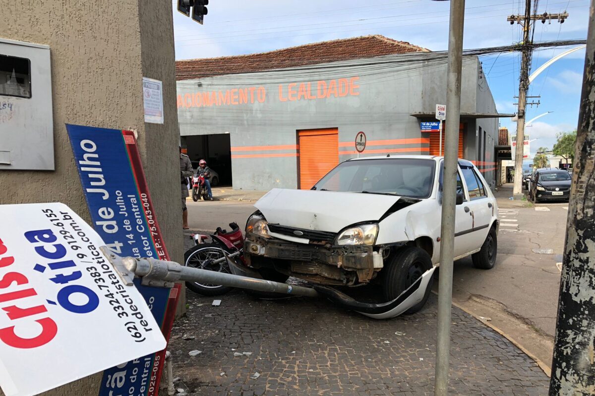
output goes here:
{"type": "Polygon", "coordinates": [[[382,256],[364,245],[306,244],[249,233],[244,252],[249,265],[256,267],[254,256],[284,260],[286,266],[275,270],[322,284],[367,283],[383,267],[382,256]]]}

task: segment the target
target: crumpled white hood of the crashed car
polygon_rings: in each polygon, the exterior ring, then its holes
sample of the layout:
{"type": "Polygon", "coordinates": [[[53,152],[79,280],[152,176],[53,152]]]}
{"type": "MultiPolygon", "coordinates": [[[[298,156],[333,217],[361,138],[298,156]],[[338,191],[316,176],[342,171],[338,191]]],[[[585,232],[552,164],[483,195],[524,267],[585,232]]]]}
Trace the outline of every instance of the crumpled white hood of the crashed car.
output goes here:
{"type": "Polygon", "coordinates": [[[399,200],[393,195],[274,188],[254,205],[268,223],[339,232],[362,221],[377,221],[399,200]]]}

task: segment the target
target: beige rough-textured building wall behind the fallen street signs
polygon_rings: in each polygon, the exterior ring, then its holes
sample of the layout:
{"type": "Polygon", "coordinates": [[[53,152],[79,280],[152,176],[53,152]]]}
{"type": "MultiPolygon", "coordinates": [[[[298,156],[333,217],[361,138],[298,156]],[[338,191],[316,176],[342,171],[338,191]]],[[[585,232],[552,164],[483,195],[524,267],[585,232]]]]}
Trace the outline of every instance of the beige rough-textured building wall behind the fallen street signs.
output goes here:
{"type": "MultiPolygon", "coordinates": [[[[181,260],[171,2],[9,1],[0,37],[50,46],[56,169],[0,171],[0,204],[64,202],[90,221],[64,124],[134,129],[168,251],[181,260]],[[145,124],[143,76],[163,81],[164,125],[145,124]]],[[[100,380],[101,373],[46,394],[95,395],[100,380]]]]}

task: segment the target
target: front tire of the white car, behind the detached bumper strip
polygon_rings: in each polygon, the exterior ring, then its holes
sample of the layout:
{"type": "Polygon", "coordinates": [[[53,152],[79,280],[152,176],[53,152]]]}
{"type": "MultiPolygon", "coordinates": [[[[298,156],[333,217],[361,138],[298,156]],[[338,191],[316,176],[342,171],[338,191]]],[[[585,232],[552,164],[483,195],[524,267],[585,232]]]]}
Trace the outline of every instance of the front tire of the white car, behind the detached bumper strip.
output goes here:
{"type": "MultiPolygon", "coordinates": [[[[415,283],[425,271],[432,268],[432,259],[424,249],[407,247],[400,249],[381,271],[381,286],[384,299],[392,301],[399,297],[409,286],[415,283]]],[[[405,313],[415,313],[423,308],[432,289],[433,278],[425,290],[424,299],[409,308],[405,313]]]]}

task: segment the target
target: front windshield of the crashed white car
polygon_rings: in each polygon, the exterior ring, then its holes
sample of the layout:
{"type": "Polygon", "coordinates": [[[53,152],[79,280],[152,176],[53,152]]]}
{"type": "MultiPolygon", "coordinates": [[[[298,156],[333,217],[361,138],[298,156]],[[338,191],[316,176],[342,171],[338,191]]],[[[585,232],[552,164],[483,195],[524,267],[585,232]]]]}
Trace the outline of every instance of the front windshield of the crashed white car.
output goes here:
{"type": "Polygon", "coordinates": [[[424,159],[345,161],[312,188],[427,198],[432,192],[436,162],[424,159]]]}

